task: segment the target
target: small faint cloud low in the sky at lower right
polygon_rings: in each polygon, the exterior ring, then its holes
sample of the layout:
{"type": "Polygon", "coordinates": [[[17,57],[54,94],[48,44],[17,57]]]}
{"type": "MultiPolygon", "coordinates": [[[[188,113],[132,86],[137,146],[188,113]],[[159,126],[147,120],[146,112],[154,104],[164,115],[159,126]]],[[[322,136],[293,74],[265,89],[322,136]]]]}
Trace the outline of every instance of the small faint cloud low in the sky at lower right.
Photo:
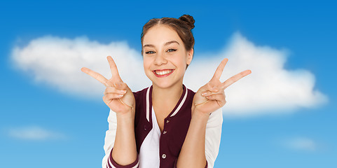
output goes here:
{"type": "Polygon", "coordinates": [[[317,151],[318,149],[318,144],[316,141],[305,137],[288,139],[284,141],[284,145],[287,148],[296,151],[317,151]]]}

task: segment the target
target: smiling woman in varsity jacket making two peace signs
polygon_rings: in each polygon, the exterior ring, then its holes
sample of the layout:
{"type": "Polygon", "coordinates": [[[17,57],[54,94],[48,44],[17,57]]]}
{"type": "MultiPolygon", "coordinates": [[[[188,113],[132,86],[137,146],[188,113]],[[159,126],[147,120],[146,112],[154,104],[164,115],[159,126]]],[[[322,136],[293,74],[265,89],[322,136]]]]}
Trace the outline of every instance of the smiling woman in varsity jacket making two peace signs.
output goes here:
{"type": "Polygon", "coordinates": [[[221,107],[226,104],[224,90],[251,71],[221,82],[225,58],[198,92],[188,90],[183,79],[193,58],[193,27],[191,15],[151,19],[144,25],[144,71],[152,85],[139,92],[123,83],[110,56],[109,80],[81,69],[106,86],[103,100],[111,109],[102,167],[213,167],[221,138],[221,107]]]}

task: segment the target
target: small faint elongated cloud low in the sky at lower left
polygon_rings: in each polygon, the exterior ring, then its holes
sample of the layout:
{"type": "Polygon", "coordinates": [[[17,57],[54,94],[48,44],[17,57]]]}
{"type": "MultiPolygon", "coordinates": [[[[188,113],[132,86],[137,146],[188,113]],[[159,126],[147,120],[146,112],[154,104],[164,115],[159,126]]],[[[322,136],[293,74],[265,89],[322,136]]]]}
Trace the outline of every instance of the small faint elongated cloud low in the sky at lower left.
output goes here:
{"type": "Polygon", "coordinates": [[[16,139],[25,140],[47,140],[64,138],[63,134],[46,130],[42,127],[37,126],[11,128],[8,130],[8,135],[16,139]]]}

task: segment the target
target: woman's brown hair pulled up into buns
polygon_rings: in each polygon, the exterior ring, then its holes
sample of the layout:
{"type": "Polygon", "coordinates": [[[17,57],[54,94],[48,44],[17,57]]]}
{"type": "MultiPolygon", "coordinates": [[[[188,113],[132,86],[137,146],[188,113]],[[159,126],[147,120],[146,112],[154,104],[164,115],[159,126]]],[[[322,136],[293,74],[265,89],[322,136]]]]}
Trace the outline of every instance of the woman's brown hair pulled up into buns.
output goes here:
{"type": "Polygon", "coordinates": [[[191,15],[182,15],[179,19],[176,18],[155,18],[149,20],[144,27],[141,35],[142,55],[143,55],[143,38],[149,29],[155,25],[167,25],[177,31],[185,45],[185,49],[191,50],[194,47],[194,37],[191,29],[194,28],[194,19],[191,15]]]}

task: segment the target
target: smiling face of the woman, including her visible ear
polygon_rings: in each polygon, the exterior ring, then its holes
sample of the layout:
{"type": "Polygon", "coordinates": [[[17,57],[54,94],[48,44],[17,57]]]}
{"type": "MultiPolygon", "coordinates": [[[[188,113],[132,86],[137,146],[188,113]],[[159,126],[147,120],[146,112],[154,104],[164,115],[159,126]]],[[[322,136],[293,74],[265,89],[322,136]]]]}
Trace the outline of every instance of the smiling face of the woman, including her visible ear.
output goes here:
{"type": "Polygon", "coordinates": [[[143,38],[144,71],[153,86],[168,88],[182,85],[186,65],[193,49],[186,51],[174,29],[165,25],[151,27],[143,38]]]}

